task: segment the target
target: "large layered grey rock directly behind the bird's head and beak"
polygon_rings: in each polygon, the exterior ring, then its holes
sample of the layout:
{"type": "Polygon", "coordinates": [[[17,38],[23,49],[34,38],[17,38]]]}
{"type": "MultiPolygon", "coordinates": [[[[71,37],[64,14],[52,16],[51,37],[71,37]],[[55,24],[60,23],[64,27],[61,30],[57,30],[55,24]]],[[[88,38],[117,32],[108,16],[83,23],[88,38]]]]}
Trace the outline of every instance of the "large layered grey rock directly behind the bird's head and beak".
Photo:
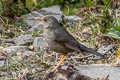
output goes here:
{"type": "Polygon", "coordinates": [[[43,24],[42,22],[38,20],[32,20],[34,17],[42,17],[45,15],[51,15],[54,16],[59,22],[62,22],[62,12],[60,10],[60,6],[52,6],[48,8],[42,8],[38,11],[34,11],[32,13],[29,13],[27,15],[24,15],[24,21],[28,24],[31,28],[29,31],[36,32],[39,30],[43,30],[43,24]]]}

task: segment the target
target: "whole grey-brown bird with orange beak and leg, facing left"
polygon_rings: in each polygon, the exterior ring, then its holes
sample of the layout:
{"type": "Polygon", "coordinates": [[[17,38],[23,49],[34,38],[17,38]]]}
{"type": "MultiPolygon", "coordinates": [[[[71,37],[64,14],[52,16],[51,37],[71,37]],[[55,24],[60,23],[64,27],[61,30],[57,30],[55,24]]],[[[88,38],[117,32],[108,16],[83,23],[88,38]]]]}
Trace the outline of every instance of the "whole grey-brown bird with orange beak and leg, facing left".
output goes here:
{"type": "Polygon", "coordinates": [[[104,58],[99,52],[94,51],[91,48],[79,43],[58,21],[55,17],[47,15],[42,18],[34,18],[35,20],[40,20],[43,25],[43,36],[48,43],[49,48],[57,53],[62,54],[60,61],[57,63],[56,67],[53,69],[55,71],[66,59],[68,53],[77,52],[87,52],[101,58],[104,58]]]}

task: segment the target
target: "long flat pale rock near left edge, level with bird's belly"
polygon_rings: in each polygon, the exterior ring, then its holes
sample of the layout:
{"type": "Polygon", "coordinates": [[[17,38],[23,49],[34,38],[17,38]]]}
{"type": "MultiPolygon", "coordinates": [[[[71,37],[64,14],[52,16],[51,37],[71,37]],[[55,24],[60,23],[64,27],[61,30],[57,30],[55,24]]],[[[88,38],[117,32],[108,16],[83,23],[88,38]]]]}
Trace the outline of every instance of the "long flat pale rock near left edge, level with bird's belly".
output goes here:
{"type": "Polygon", "coordinates": [[[8,54],[15,54],[17,52],[24,52],[27,50],[28,50],[27,46],[10,46],[3,49],[3,51],[8,54]]]}

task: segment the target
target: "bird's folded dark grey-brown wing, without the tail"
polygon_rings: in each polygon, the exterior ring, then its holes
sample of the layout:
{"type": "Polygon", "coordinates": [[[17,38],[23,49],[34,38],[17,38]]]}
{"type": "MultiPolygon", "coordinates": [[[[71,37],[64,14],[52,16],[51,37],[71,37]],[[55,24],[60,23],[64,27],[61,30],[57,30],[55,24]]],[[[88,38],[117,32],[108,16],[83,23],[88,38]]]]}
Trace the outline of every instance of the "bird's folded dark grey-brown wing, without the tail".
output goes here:
{"type": "Polygon", "coordinates": [[[55,41],[58,42],[60,45],[74,50],[74,51],[80,51],[79,50],[79,43],[75,40],[75,38],[69,34],[66,30],[62,32],[61,34],[57,34],[56,32],[56,38],[55,41]]]}

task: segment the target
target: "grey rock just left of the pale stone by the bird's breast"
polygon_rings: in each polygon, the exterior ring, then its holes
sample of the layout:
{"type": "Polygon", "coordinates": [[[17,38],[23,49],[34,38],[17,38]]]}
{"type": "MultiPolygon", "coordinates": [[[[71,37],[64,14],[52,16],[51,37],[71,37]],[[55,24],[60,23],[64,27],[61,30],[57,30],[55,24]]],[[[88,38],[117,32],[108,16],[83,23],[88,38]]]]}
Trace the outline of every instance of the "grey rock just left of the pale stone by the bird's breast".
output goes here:
{"type": "Polygon", "coordinates": [[[13,40],[15,44],[19,46],[33,42],[34,38],[32,37],[32,35],[26,34],[19,37],[15,37],[13,40]]]}

